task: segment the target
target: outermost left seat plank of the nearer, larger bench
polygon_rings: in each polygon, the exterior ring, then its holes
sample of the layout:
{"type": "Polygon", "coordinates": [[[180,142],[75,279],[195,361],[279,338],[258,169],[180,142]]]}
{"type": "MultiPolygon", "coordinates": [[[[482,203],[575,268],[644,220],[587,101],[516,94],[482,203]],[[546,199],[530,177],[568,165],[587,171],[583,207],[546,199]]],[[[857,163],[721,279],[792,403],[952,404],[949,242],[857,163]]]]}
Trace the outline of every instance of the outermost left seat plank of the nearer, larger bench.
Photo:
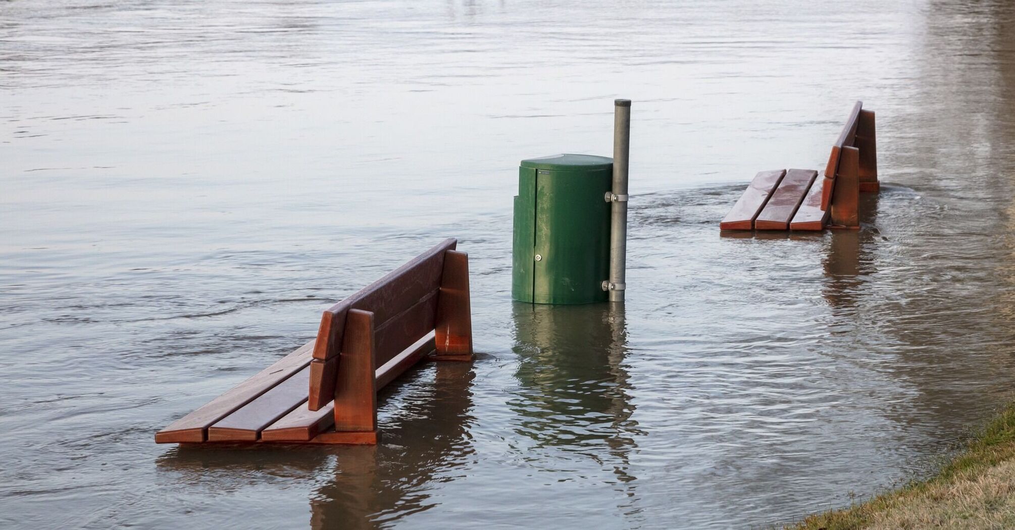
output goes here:
{"type": "Polygon", "coordinates": [[[228,392],[174,421],[155,434],[155,443],[204,442],[207,440],[207,429],[212,423],[257,399],[280,381],[303,370],[311,361],[314,343],[315,341],[311,340],[228,392]]]}

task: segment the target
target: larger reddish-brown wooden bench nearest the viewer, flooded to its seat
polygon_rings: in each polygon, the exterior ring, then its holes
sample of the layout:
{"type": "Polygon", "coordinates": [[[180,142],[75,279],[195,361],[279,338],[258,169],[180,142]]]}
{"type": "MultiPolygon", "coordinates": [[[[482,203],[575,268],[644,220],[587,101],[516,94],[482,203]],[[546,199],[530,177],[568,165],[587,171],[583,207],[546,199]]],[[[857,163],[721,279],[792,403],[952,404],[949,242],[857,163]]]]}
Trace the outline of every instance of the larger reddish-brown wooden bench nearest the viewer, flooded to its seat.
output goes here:
{"type": "Polygon", "coordinates": [[[376,444],[377,391],[472,359],[469,258],[449,239],[324,312],[317,338],[155,434],[159,444],[376,444]]]}

